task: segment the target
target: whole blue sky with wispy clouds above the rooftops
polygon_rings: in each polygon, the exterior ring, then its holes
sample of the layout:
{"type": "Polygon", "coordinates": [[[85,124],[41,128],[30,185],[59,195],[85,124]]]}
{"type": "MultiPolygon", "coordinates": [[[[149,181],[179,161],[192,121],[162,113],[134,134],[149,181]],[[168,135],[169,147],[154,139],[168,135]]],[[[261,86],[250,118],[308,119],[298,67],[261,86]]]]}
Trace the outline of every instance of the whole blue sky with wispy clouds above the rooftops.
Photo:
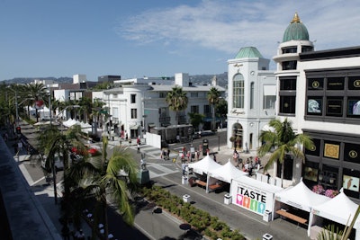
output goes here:
{"type": "Polygon", "coordinates": [[[220,74],[242,47],[273,58],[295,12],[315,49],[360,45],[357,0],[0,0],[0,80],[220,74]]]}

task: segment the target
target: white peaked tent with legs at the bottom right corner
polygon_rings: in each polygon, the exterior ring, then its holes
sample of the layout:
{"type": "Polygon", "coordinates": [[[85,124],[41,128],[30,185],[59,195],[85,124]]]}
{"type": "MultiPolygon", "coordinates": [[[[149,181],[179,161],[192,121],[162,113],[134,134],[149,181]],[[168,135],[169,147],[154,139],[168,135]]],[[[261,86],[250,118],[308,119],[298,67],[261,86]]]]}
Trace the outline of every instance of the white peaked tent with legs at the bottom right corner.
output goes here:
{"type": "MultiPolygon", "coordinates": [[[[349,225],[358,207],[359,206],[350,200],[341,190],[333,199],[319,205],[314,205],[311,210],[309,226],[312,227],[312,225],[316,225],[320,222],[320,218],[327,218],[342,225],[349,225]]],[[[356,218],[354,228],[356,229],[355,239],[360,240],[360,217],[356,218]]],[[[308,236],[310,236],[310,229],[308,229],[308,236]]]]}

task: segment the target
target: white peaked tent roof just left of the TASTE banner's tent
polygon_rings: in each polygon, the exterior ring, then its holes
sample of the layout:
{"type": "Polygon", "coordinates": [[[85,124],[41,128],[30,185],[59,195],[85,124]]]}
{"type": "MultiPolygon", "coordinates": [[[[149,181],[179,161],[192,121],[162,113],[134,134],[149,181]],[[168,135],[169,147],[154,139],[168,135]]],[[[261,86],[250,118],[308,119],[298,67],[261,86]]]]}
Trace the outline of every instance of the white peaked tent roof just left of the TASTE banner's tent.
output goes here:
{"type": "Polygon", "coordinates": [[[221,181],[231,183],[231,180],[247,175],[247,173],[238,170],[238,168],[231,164],[229,160],[227,164],[221,165],[219,168],[209,171],[209,175],[221,181]]]}

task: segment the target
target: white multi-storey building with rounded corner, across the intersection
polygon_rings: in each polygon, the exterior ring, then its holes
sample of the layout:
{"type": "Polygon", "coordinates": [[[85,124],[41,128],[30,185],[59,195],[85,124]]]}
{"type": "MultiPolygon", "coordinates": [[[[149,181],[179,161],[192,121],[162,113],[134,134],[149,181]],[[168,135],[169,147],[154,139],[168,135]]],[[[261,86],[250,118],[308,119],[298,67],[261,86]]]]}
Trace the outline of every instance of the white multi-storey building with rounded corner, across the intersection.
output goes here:
{"type": "MultiPolygon", "coordinates": [[[[175,74],[175,81],[159,78],[132,78],[115,81],[120,87],[93,93],[94,99],[105,102],[110,112],[113,134],[128,134],[137,138],[150,128],[189,123],[188,112],[197,112],[211,117],[211,106],[207,93],[212,85],[193,85],[188,74],[175,74]],[[187,109],[179,112],[176,119],[175,111],[171,111],[166,103],[166,93],[171,92],[175,85],[182,86],[189,99],[187,109]],[[144,131],[142,131],[144,130],[144,131]]],[[[216,86],[220,93],[225,89],[216,86]]],[[[110,126],[109,125],[109,126],[110,126]]]]}

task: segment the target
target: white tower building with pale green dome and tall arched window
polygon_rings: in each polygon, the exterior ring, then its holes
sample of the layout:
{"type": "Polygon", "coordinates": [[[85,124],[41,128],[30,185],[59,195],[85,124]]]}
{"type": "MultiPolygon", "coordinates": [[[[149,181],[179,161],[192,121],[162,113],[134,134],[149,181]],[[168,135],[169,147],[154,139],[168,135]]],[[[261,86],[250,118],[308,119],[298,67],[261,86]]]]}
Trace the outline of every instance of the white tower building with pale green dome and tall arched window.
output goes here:
{"type": "Polygon", "coordinates": [[[228,147],[256,150],[259,132],[275,117],[276,79],[269,62],[254,47],[228,60],[228,147]]]}

